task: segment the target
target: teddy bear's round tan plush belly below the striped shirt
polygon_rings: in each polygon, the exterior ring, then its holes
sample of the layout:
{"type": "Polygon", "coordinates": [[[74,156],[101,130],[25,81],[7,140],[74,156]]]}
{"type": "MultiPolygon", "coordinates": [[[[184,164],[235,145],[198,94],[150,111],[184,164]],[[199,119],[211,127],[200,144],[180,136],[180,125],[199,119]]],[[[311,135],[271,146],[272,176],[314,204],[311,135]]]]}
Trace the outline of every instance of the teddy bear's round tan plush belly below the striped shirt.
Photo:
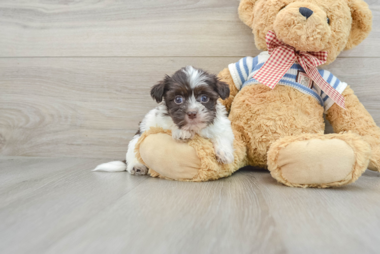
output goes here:
{"type": "Polygon", "coordinates": [[[235,97],[230,119],[241,130],[252,166],[267,167],[267,151],[277,139],[325,129],[323,108],[304,93],[277,85],[244,87],[235,97]]]}

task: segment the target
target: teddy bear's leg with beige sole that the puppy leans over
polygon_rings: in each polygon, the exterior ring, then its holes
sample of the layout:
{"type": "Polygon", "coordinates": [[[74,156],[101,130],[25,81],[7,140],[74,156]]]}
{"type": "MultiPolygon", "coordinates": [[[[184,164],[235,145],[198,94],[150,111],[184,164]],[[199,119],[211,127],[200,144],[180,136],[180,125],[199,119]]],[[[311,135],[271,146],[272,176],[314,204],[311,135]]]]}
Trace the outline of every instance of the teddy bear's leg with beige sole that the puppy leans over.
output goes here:
{"type": "Polygon", "coordinates": [[[153,177],[180,181],[207,181],[230,176],[246,165],[246,148],[234,131],[234,162],[217,162],[212,143],[196,135],[188,142],[174,140],[170,131],[150,128],[136,144],[136,157],[153,177]]]}

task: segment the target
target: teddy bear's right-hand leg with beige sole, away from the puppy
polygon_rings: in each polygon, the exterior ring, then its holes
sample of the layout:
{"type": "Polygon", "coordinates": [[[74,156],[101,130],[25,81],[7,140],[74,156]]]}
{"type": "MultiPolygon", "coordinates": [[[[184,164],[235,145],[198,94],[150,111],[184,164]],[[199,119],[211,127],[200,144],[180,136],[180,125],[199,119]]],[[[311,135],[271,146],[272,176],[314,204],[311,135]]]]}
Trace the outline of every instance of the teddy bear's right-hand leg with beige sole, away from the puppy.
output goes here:
{"type": "Polygon", "coordinates": [[[349,184],[366,170],[369,144],[358,134],[301,134],[274,142],[268,169],[279,182],[293,187],[331,187],[349,184]]]}

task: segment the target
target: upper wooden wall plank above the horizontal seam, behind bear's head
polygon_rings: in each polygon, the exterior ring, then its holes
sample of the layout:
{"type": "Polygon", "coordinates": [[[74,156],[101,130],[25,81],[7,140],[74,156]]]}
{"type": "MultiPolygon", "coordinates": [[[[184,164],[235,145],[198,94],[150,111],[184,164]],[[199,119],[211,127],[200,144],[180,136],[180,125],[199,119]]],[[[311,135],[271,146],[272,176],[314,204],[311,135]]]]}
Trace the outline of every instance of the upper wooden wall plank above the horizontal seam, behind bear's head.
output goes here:
{"type": "MultiPolygon", "coordinates": [[[[373,30],[342,56],[379,57],[373,30]]],[[[0,56],[247,56],[259,52],[238,0],[2,0],[0,56]]]]}

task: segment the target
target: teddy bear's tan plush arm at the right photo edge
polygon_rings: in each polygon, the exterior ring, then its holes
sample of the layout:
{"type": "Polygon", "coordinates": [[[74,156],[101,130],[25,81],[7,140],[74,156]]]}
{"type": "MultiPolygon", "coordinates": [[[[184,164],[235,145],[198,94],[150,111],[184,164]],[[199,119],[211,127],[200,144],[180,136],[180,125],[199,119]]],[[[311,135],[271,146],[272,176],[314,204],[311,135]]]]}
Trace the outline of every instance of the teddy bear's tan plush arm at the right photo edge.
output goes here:
{"type": "Polygon", "coordinates": [[[372,149],[368,169],[380,171],[380,128],[376,126],[350,86],[347,86],[342,94],[345,110],[334,104],[328,110],[326,118],[330,121],[335,133],[352,131],[362,136],[372,149]]]}

